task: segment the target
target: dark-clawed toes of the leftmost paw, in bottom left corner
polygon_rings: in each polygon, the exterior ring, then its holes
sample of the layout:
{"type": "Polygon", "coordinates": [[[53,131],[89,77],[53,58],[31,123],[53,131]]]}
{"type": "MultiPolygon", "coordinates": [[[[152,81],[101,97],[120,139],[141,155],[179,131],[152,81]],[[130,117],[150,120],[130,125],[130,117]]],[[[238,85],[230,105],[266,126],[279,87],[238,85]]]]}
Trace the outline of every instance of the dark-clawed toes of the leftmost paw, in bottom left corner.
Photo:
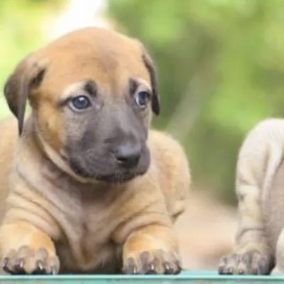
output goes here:
{"type": "Polygon", "coordinates": [[[28,246],[21,246],[4,256],[2,269],[10,274],[57,274],[58,256],[51,256],[44,248],[33,251],[28,246]]]}

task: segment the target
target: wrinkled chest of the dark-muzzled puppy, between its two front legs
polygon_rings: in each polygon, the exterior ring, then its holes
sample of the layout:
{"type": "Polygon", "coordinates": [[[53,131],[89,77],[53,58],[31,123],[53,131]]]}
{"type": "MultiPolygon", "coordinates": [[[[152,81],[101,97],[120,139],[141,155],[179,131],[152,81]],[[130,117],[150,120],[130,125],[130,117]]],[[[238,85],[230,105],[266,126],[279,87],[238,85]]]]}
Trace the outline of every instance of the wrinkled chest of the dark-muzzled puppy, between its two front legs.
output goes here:
{"type": "Polygon", "coordinates": [[[114,214],[121,190],[107,185],[82,185],[65,175],[47,173],[45,196],[60,209],[50,214],[63,233],[55,244],[62,270],[114,272],[118,263],[117,248],[111,241],[111,234],[121,220],[114,214]]]}

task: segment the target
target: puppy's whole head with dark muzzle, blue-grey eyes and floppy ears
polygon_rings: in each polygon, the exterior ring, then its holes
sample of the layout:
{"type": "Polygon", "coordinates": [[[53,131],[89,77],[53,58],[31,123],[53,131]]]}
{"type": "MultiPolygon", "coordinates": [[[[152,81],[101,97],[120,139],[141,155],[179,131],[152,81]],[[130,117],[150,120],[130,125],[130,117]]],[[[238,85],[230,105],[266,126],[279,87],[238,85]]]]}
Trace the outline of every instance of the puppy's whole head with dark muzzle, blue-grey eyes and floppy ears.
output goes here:
{"type": "Polygon", "coordinates": [[[137,40],[101,28],[59,38],[18,64],[4,89],[23,130],[26,100],[40,141],[77,177],[124,182],[146,173],[152,60],[137,40]]]}

